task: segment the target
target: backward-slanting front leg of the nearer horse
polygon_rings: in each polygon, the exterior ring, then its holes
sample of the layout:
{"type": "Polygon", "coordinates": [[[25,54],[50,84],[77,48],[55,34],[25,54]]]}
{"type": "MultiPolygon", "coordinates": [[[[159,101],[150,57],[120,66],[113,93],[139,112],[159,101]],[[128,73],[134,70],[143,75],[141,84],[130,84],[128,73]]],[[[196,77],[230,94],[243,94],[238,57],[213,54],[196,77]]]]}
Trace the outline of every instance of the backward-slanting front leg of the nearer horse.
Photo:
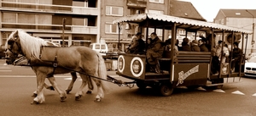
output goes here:
{"type": "Polygon", "coordinates": [[[67,98],[66,92],[58,87],[58,84],[57,84],[54,76],[49,77],[48,80],[49,80],[50,84],[55,88],[55,90],[60,94],[61,102],[64,102],[64,100],[67,98]]]}

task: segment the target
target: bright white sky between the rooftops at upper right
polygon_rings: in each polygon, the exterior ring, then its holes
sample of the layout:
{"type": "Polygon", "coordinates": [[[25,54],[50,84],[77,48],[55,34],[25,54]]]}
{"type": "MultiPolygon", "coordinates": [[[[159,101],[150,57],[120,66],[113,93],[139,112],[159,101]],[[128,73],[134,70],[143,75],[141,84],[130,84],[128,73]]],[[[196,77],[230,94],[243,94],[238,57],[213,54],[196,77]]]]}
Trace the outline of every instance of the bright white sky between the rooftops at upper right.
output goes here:
{"type": "Polygon", "coordinates": [[[180,0],[190,2],[204,19],[212,22],[220,8],[256,9],[256,0],[180,0]]]}

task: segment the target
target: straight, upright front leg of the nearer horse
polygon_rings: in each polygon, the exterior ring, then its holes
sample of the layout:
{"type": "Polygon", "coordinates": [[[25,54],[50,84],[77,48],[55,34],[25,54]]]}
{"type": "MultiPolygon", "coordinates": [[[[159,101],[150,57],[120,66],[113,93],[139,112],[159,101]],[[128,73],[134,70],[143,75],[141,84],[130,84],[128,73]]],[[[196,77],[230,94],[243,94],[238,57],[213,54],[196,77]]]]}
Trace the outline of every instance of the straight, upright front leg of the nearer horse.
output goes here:
{"type": "Polygon", "coordinates": [[[37,81],[38,81],[38,91],[37,91],[37,93],[38,93],[38,96],[33,99],[32,104],[34,102],[38,104],[38,103],[43,103],[45,101],[44,92],[43,92],[44,80],[45,80],[44,75],[37,75],[37,81]]]}

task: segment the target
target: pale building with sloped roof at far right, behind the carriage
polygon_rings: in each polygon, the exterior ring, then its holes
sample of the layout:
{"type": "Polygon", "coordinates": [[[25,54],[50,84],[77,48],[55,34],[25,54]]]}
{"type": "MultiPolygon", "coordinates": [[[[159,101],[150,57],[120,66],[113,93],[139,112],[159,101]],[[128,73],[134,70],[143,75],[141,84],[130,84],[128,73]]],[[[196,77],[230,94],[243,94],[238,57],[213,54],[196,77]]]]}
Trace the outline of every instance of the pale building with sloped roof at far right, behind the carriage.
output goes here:
{"type": "MultiPolygon", "coordinates": [[[[255,52],[255,30],[254,23],[256,22],[256,9],[219,9],[218,14],[213,20],[214,23],[221,25],[229,25],[246,30],[252,30],[253,33],[247,36],[247,52],[255,52]]],[[[246,43],[246,42],[245,42],[246,43]]]]}

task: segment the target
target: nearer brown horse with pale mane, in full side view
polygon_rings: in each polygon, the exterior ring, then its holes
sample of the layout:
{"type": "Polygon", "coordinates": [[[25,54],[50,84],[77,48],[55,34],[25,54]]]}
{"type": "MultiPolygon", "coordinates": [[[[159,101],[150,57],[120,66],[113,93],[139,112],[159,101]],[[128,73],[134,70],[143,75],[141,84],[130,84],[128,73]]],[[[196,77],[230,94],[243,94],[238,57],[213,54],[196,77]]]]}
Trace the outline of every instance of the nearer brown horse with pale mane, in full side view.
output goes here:
{"type": "Polygon", "coordinates": [[[55,46],[54,43],[30,36],[23,30],[15,30],[6,42],[5,47],[10,52],[22,54],[31,62],[32,70],[37,75],[38,96],[33,99],[33,102],[44,102],[42,90],[45,78],[59,92],[61,101],[64,101],[67,94],[57,85],[54,75],[71,72],[78,72],[83,80],[79,91],[75,94],[76,100],[82,97],[87,84],[92,86],[92,79],[97,86],[96,101],[101,101],[108,86],[106,81],[102,81],[107,80],[107,69],[99,52],[95,52],[89,47],[44,47],[49,44],[55,46]],[[98,77],[102,80],[90,77],[98,77]]]}

